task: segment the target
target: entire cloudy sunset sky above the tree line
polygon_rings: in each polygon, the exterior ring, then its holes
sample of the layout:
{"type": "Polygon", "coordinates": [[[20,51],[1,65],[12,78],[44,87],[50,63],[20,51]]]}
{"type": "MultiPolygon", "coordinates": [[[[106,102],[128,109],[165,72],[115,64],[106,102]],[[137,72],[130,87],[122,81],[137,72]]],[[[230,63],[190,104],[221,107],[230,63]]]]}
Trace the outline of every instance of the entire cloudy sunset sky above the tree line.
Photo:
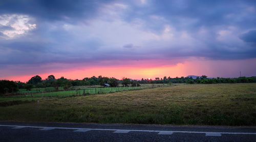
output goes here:
{"type": "Polygon", "coordinates": [[[256,1],[0,1],[0,79],[256,76],[256,1]]]}

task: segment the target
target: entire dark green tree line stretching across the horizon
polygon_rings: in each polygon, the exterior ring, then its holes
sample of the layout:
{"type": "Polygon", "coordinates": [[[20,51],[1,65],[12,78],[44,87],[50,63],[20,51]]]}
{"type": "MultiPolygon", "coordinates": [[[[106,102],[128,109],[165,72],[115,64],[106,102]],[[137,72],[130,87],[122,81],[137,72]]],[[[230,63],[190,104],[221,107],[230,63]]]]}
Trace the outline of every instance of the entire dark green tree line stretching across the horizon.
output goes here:
{"type": "Polygon", "coordinates": [[[250,83],[256,82],[256,76],[252,77],[238,77],[238,78],[207,78],[206,75],[197,77],[193,79],[192,77],[166,77],[163,78],[156,77],[155,80],[152,79],[141,79],[133,80],[129,78],[122,78],[121,80],[114,77],[102,77],[101,75],[96,77],[86,77],[81,80],[79,79],[67,79],[65,77],[55,78],[54,75],[49,75],[46,79],[42,79],[39,75],[35,75],[29,79],[28,82],[20,81],[9,81],[9,80],[0,80],[0,94],[5,93],[15,93],[18,89],[26,89],[27,91],[32,88],[47,88],[53,87],[56,91],[59,90],[59,87],[62,87],[64,90],[70,90],[74,86],[103,86],[104,83],[110,84],[111,87],[118,87],[119,84],[122,84],[123,87],[139,87],[140,84],[146,83],[250,83]]]}

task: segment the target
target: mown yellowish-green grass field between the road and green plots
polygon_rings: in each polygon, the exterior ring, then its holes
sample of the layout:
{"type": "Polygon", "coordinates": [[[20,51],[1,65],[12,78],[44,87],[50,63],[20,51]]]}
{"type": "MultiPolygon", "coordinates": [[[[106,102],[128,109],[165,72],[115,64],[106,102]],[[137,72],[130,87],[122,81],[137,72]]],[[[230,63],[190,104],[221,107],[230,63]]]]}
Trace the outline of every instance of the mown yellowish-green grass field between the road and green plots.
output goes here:
{"type": "Polygon", "coordinates": [[[183,84],[19,103],[1,106],[0,120],[256,126],[256,83],[183,84]]]}

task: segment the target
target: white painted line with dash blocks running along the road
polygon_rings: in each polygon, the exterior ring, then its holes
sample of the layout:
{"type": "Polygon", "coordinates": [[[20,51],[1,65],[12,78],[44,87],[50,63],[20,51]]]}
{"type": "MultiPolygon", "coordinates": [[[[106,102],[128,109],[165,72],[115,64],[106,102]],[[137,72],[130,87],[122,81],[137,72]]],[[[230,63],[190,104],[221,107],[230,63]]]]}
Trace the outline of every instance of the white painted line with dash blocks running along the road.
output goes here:
{"type": "Polygon", "coordinates": [[[41,127],[41,126],[17,126],[17,125],[0,125],[3,127],[18,127],[18,128],[41,128],[41,130],[52,130],[52,129],[71,129],[76,131],[89,131],[89,130],[101,130],[101,131],[136,131],[136,132],[158,132],[158,134],[173,134],[173,133],[205,133],[206,136],[221,136],[221,134],[256,134],[256,133],[242,133],[242,132],[200,132],[200,131],[161,131],[161,130],[125,130],[125,129],[92,129],[92,128],[69,128],[69,127],[41,127]]]}

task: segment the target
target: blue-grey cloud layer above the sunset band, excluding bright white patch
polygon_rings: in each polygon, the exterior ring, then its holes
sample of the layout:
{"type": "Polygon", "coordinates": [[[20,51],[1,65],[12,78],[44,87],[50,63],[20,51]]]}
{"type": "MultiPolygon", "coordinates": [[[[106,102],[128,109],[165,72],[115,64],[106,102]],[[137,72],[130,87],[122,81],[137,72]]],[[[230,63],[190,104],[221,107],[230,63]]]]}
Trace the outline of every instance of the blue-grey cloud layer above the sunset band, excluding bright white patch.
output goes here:
{"type": "Polygon", "coordinates": [[[254,1],[145,2],[1,1],[0,15],[28,15],[36,29],[0,32],[0,65],[256,58],[254,1]]]}

